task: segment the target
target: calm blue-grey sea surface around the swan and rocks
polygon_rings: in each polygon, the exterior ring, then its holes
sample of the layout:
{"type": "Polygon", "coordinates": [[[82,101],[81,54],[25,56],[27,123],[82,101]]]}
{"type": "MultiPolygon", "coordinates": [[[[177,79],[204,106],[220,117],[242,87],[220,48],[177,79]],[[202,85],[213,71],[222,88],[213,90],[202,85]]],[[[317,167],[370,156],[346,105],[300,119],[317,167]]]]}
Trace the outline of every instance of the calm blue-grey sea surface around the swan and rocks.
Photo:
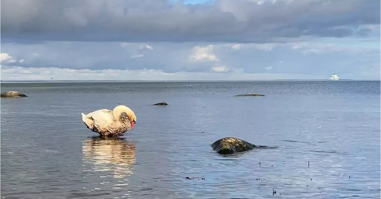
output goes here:
{"type": "Polygon", "coordinates": [[[9,90],[28,97],[0,99],[0,199],[381,198],[381,81],[0,84],[9,90]],[[232,97],[247,93],[266,97],[232,97]],[[137,116],[120,139],[83,124],[81,112],[118,103],[137,116]],[[221,156],[210,144],[223,137],[279,148],[221,156]]]}

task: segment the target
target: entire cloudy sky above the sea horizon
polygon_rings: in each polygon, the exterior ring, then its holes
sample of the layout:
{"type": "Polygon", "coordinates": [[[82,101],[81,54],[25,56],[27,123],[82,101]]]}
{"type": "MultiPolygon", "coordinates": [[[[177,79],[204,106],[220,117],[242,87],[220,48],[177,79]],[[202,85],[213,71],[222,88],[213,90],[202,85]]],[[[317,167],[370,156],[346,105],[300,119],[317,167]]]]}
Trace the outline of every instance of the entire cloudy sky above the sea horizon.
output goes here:
{"type": "Polygon", "coordinates": [[[0,0],[1,80],[381,79],[380,0],[0,0]]]}

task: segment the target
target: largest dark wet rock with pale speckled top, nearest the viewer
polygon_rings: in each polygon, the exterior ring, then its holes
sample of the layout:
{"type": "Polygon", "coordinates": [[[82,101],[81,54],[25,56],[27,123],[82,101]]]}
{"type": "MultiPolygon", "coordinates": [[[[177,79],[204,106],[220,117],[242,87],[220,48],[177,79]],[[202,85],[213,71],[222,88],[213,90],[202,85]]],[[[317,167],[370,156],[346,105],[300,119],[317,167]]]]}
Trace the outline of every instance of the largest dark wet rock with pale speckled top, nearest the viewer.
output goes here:
{"type": "Polygon", "coordinates": [[[243,151],[252,150],[253,148],[276,148],[272,146],[269,147],[269,146],[255,145],[235,137],[225,137],[223,139],[219,139],[213,144],[211,144],[211,147],[218,154],[224,154],[224,155],[240,153],[243,151]]]}

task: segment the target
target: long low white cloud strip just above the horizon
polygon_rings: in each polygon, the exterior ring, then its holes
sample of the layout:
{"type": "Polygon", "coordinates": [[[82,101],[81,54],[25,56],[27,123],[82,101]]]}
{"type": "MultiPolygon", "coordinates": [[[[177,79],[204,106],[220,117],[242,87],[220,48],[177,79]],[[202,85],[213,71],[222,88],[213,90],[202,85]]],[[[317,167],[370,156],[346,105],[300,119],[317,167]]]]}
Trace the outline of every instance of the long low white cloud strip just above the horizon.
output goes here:
{"type": "MultiPolygon", "coordinates": [[[[226,70],[221,67],[218,70],[226,70]]],[[[241,73],[242,69],[232,72],[176,72],[163,70],[89,70],[69,68],[26,68],[6,67],[2,70],[2,80],[120,80],[120,81],[180,81],[180,80],[276,80],[276,79],[316,79],[326,78],[316,75],[280,74],[280,73],[241,73]]]]}

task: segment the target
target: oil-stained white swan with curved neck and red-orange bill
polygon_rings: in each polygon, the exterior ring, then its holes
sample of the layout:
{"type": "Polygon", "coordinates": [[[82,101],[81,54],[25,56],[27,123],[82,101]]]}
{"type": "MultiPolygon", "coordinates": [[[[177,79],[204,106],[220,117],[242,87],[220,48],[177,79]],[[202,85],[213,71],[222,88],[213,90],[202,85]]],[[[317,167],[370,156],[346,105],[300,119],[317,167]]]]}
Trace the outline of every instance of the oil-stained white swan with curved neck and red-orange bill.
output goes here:
{"type": "Polygon", "coordinates": [[[112,111],[101,109],[81,115],[88,129],[103,136],[123,134],[134,129],[136,123],[134,111],[124,105],[118,105],[112,111]]]}

